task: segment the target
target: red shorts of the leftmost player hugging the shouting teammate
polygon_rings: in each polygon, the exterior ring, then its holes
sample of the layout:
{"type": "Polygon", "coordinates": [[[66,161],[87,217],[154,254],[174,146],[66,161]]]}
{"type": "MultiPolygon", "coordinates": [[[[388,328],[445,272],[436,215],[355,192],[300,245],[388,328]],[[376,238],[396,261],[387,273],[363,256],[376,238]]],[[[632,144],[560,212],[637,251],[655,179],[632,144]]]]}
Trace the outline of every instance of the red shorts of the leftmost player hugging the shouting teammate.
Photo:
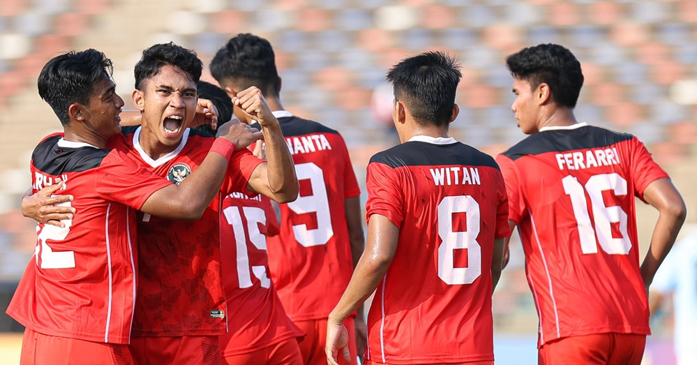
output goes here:
{"type": "Polygon", "coordinates": [[[50,336],[24,330],[20,365],[132,365],[128,345],[50,336]]]}

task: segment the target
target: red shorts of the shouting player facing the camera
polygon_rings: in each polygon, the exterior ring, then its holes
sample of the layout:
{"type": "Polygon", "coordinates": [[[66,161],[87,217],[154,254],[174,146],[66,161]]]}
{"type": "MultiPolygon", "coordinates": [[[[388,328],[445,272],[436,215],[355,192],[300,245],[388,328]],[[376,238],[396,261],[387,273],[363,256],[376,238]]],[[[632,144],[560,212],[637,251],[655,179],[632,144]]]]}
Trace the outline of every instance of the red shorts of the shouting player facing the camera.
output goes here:
{"type": "Polygon", "coordinates": [[[136,364],[220,365],[218,336],[132,337],[136,364]]]}

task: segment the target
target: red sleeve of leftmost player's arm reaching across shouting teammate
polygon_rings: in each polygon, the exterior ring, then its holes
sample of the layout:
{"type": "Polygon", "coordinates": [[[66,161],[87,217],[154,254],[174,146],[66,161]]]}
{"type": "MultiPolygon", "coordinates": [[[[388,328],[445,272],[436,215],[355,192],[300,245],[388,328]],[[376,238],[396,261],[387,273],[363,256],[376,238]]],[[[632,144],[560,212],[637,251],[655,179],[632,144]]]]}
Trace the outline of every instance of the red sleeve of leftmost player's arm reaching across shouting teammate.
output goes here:
{"type": "Polygon", "coordinates": [[[99,173],[100,178],[94,181],[98,194],[106,200],[139,210],[150,195],[172,184],[116,149],[104,158],[99,166],[99,173]]]}

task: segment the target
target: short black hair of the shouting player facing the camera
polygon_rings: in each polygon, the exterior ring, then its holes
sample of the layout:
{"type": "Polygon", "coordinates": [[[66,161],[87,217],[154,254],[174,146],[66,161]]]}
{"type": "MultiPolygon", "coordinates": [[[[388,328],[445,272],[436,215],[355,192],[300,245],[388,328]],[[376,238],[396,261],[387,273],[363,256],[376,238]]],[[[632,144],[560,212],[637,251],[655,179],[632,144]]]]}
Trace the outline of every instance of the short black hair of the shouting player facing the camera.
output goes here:
{"type": "Polygon", "coordinates": [[[176,66],[191,75],[193,82],[198,82],[203,71],[203,62],[193,50],[180,45],[160,43],[143,51],[140,61],[135,64],[135,88],[142,89],[142,83],[160,72],[166,65],[176,66]]]}

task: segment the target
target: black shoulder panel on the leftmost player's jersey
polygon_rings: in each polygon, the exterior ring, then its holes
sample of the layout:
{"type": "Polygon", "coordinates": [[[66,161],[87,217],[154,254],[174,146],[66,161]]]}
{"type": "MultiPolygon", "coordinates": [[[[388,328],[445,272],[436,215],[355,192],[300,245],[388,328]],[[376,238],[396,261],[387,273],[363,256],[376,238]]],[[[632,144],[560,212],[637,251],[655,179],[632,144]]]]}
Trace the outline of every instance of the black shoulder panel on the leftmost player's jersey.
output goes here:
{"type": "Polygon", "coordinates": [[[58,176],[65,172],[86,171],[98,167],[111,152],[110,149],[94,147],[58,147],[60,135],[49,137],[36,146],[31,161],[36,168],[46,174],[58,176]]]}

